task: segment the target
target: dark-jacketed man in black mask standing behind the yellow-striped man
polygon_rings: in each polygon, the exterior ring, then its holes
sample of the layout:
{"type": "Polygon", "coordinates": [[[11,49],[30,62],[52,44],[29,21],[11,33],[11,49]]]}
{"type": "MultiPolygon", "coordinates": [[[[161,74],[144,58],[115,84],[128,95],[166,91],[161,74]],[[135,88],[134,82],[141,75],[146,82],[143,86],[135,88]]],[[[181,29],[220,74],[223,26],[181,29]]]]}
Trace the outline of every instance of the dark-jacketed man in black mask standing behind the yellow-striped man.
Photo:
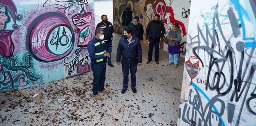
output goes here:
{"type": "Polygon", "coordinates": [[[113,25],[111,22],[108,21],[108,16],[102,15],[101,16],[101,22],[98,23],[96,28],[102,28],[104,31],[104,39],[103,41],[106,43],[107,50],[110,54],[110,57],[108,58],[108,65],[111,67],[114,67],[114,65],[111,63],[111,53],[112,53],[112,40],[113,40],[113,25]]]}

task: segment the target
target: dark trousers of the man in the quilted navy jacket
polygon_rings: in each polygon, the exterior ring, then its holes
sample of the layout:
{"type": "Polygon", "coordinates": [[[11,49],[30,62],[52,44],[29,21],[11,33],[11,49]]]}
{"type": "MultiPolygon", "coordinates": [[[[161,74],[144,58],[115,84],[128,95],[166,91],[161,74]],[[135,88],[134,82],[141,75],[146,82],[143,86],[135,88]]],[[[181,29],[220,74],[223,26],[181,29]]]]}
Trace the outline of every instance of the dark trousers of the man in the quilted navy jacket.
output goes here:
{"type": "Polygon", "coordinates": [[[136,72],[137,72],[137,66],[132,66],[132,67],[126,67],[122,66],[123,74],[124,74],[124,80],[123,80],[123,88],[127,89],[128,88],[128,82],[129,82],[129,71],[131,73],[131,88],[135,88],[136,86],[136,72]]]}

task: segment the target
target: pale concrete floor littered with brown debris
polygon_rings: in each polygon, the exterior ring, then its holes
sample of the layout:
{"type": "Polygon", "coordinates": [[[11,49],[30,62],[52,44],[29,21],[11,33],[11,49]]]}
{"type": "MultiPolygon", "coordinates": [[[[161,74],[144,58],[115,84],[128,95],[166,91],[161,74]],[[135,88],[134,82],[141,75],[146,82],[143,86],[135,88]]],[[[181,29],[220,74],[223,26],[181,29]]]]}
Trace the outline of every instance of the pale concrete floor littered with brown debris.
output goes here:
{"type": "Polygon", "coordinates": [[[178,68],[166,66],[168,53],[160,50],[160,64],[146,64],[148,46],[143,44],[143,64],[137,71],[137,93],[132,93],[129,82],[128,90],[121,94],[122,68],[115,63],[120,35],[114,33],[114,38],[114,67],[107,66],[105,81],[105,88],[111,92],[101,94],[102,100],[96,100],[92,95],[92,72],[25,88],[23,91],[31,96],[26,100],[23,96],[18,97],[18,92],[1,92],[0,102],[4,103],[0,104],[0,125],[176,125],[184,59],[179,58],[178,68]],[[41,104],[35,105],[37,97],[32,96],[39,90],[46,92],[42,92],[41,104]],[[88,108],[83,107],[85,103],[89,104],[88,108]],[[129,104],[134,107],[126,107],[129,104]],[[149,117],[150,113],[154,115],[149,117]]]}

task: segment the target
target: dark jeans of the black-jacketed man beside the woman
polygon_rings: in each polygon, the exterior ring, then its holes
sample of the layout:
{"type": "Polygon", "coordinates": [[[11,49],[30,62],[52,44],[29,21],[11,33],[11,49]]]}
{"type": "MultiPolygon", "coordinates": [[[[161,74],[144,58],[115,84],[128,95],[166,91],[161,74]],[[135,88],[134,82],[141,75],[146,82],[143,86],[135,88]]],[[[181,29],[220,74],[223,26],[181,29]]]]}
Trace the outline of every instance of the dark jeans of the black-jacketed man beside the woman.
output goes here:
{"type": "Polygon", "coordinates": [[[159,58],[159,44],[160,44],[160,40],[158,41],[152,41],[150,40],[149,43],[149,50],[148,50],[148,58],[147,60],[151,61],[152,60],[152,53],[153,53],[153,48],[155,46],[155,61],[158,61],[159,58]]]}

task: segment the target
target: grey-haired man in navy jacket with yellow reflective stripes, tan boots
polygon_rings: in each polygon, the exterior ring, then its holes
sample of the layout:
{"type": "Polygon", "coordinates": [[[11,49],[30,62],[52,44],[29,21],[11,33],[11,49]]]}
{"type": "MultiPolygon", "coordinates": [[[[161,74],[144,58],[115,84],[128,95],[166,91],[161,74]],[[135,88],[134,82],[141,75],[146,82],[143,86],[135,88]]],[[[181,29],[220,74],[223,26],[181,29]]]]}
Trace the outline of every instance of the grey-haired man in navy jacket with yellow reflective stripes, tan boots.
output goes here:
{"type": "Polygon", "coordinates": [[[106,59],[110,54],[106,50],[106,43],[103,41],[104,31],[96,28],[94,38],[88,43],[87,49],[91,59],[91,69],[93,70],[93,95],[101,100],[100,93],[109,93],[104,89],[106,79],[106,59]]]}

